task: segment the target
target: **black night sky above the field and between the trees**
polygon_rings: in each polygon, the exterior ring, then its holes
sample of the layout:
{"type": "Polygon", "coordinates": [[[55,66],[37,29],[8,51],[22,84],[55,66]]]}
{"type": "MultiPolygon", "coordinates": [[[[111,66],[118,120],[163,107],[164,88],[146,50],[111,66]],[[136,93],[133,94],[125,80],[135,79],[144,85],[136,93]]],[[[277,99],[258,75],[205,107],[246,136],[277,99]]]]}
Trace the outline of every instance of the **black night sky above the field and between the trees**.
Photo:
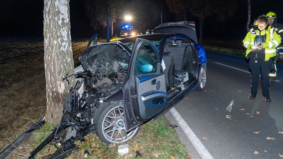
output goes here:
{"type": "MultiPolygon", "coordinates": [[[[135,1],[135,0],[133,0],[135,1]]],[[[207,18],[203,26],[204,38],[229,38],[243,39],[246,35],[247,23],[247,0],[238,0],[239,7],[233,17],[226,21],[217,21],[213,16],[207,18]]],[[[283,0],[251,0],[252,17],[251,23],[259,15],[274,11],[278,21],[283,23],[283,0]]],[[[164,0],[165,2],[165,0],[164,0]]],[[[43,37],[43,0],[0,0],[0,37],[10,36],[38,36],[43,37]]],[[[164,9],[168,12],[168,9],[164,9]]],[[[131,8],[131,11],[138,15],[142,12],[138,8],[131,8]],[[135,12],[136,11],[136,12],[135,12]]],[[[146,11],[142,12],[146,16],[146,11]],[[144,14],[145,13],[145,14],[144,14]]],[[[137,16],[138,17],[138,16],[137,16]]],[[[188,16],[196,22],[198,31],[198,19],[188,16]]],[[[123,18],[123,17],[122,17],[123,18]]],[[[93,34],[99,33],[106,36],[106,28],[94,30],[91,28],[90,20],[87,17],[85,6],[82,0],[70,0],[71,36],[74,38],[91,38],[93,34]]],[[[148,29],[157,25],[151,17],[144,21],[148,29]]],[[[166,14],[167,21],[175,21],[174,16],[169,12],[166,14]]],[[[135,19],[139,21],[139,19],[135,19]]],[[[163,21],[163,22],[167,22],[163,21]]],[[[118,32],[122,19],[115,23],[115,32],[118,32]]],[[[145,31],[145,30],[144,30],[145,31]]]]}

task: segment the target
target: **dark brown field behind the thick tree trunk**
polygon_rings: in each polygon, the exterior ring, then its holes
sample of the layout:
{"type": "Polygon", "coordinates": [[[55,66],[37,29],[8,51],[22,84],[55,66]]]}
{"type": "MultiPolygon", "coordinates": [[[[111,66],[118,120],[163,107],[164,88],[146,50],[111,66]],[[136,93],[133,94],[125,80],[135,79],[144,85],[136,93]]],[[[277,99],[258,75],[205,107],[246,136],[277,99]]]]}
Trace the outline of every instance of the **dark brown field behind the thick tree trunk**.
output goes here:
{"type": "MultiPolygon", "coordinates": [[[[82,53],[86,45],[86,41],[72,43],[74,56],[82,53]],[[80,45],[83,47],[78,47],[80,45]]],[[[30,123],[38,121],[45,114],[43,39],[0,39],[0,70],[2,151],[23,133],[30,123]]]]}

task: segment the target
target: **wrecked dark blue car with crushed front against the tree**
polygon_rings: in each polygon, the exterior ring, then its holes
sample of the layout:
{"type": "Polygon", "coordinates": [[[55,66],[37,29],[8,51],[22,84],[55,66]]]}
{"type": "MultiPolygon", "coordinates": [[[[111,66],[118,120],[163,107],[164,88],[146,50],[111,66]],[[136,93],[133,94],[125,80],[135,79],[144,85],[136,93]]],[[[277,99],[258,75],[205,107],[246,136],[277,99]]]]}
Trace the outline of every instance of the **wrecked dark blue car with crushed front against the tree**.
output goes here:
{"type": "Polygon", "coordinates": [[[205,51],[191,21],[163,23],[154,34],[89,45],[77,61],[76,85],[50,139],[68,128],[65,141],[94,130],[106,144],[127,142],[141,124],[206,84],[205,51]]]}

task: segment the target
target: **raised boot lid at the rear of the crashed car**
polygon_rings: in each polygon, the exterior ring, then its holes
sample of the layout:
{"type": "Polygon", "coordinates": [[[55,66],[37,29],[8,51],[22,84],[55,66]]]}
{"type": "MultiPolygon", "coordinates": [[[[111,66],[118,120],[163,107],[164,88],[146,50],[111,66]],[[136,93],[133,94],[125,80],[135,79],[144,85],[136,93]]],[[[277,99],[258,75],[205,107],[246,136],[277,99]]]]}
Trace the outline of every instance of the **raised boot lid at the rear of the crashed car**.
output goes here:
{"type": "Polygon", "coordinates": [[[193,21],[167,22],[156,26],[154,33],[179,33],[184,34],[197,43],[195,23],[193,21]]]}

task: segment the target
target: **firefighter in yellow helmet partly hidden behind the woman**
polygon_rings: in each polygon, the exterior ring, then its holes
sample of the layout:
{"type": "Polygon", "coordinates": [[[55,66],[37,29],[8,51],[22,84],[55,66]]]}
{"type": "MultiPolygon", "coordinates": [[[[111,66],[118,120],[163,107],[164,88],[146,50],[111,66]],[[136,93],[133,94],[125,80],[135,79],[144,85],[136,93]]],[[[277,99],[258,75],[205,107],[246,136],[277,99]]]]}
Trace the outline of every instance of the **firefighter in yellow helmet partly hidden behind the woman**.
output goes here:
{"type": "MultiPolygon", "coordinates": [[[[268,24],[277,29],[278,33],[281,36],[281,40],[282,40],[283,39],[283,24],[277,21],[276,13],[273,12],[273,11],[270,11],[270,12],[268,12],[266,14],[266,17],[268,19],[268,24]]],[[[273,69],[272,69],[272,71],[269,74],[271,82],[275,82],[276,81],[276,72],[277,72],[276,62],[279,60],[279,57],[280,57],[280,53],[279,53],[279,48],[278,48],[277,49],[276,58],[274,60],[273,69]]]]}

